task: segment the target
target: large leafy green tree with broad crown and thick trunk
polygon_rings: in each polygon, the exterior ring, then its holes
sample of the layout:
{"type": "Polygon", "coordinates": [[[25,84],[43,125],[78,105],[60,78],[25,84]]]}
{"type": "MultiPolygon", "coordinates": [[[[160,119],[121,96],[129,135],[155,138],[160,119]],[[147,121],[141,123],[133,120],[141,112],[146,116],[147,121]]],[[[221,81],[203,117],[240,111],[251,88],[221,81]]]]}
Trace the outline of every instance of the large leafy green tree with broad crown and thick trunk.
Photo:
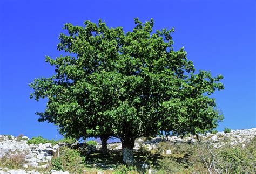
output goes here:
{"type": "Polygon", "coordinates": [[[126,164],[134,162],[137,137],[215,128],[220,117],[210,94],[224,89],[223,76],[196,74],[184,48],[173,50],[173,29],[153,33],[152,19],[134,22],[127,33],[101,20],[65,24],[58,49],[68,55],[46,57],[56,74],[30,83],[31,98],[48,99],[39,121],[57,124],[66,136],[119,137],[126,164]]]}

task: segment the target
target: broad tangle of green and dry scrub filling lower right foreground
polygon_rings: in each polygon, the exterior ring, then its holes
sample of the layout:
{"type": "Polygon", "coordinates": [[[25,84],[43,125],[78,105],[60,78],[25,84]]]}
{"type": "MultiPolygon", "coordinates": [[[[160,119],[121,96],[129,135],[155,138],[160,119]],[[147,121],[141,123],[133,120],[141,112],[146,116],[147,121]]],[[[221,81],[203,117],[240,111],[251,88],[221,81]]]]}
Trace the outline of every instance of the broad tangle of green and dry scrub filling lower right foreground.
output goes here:
{"type": "Polygon", "coordinates": [[[159,143],[159,149],[172,149],[170,156],[163,156],[158,163],[160,173],[176,172],[226,172],[245,173],[255,170],[256,138],[241,148],[225,145],[215,149],[211,144],[201,143],[159,143]]]}

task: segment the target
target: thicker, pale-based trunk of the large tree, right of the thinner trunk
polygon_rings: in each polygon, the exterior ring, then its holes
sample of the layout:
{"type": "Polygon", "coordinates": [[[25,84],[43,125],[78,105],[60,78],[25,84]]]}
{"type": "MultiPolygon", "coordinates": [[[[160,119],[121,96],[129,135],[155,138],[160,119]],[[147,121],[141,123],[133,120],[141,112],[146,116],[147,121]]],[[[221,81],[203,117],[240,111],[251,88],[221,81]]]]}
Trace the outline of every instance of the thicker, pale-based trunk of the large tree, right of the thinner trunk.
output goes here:
{"type": "Polygon", "coordinates": [[[123,163],[125,164],[133,164],[134,163],[134,157],[133,157],[133,147],[135,138],[124,136],[121,138],[122,142],[122,153],[123,153],[123,163]]]}

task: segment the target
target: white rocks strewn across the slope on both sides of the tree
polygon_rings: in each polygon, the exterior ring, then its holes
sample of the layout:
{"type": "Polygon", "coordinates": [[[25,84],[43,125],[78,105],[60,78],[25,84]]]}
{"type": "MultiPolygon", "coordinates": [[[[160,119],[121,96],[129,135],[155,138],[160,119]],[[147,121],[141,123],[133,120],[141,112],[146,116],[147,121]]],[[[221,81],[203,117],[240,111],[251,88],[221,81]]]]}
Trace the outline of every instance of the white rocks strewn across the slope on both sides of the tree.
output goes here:
{"type": "MultiPolygon", "coordinates": [[[[256,128],[245,129],[245,130],[231,130],[230,133],[219,132],[216,134],[206,134],[200,135],[201,141],[210,142],[214,148],[221,148],[225,144],[230,144],[231,146],[241,144],[244,146],[248,141],[252,140],[256,136],[256,128]]],[[[39,173],[39,169],[45,169],[49,167],[49,162],[60,145],[51,145],[50,143],[45,144],[27,144],[29,140],[28,137],[14,137],[10,135],[0,135],[0,158],[6,156],[12,156],[17,154],[22,154],[24,157],[23,170],[13,170],[8,168],[0,168],[0,173],[39,173]],[[37,170],[38,169],[38,170],[37,170]]],[[[179,136],[170,136],[168,141],[166,137],[155,137],[151,139],[138,138],[134,145],[134,150],[139,150],[141,148],[147,151],[156,150],[160,142],[197,142],[195,136],[186,136],[181,138],[179,136]]],[[[96,146],[97,149],[101,148],[101,145],[96,146]]],[[[111,143],[108,144],[109,150],[121,150],[121,143],[111,143]]],[[[172,150],[167,149],[165,154],[171,154],[172,150]]],[[[55,171],[51,170],[46,173],[69,173],[68,171],[55,171]]]]}

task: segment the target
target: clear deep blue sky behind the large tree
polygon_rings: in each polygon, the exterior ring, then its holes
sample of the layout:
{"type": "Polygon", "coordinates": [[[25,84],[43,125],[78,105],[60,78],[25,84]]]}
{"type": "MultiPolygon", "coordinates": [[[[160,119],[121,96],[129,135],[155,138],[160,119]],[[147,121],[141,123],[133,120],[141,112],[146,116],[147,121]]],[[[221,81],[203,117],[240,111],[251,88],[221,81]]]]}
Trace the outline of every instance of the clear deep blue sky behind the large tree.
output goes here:
{"type": "Polygon", "coordinates": [[[256,127],[255,0],[177,1],[0,1],[0,134],[59,138],[53,124],[37,121],[45,101],[29,98],[28,84],[51,76],[45,55],[57,57],[64,23],[105,20],[110,27],[134,27],[133,19],[154,19],[154,29],[174,27],[174,50],[184,46],[196,69],[223,74],[225,89],[214,94],[224,127],[256,127]]]}

